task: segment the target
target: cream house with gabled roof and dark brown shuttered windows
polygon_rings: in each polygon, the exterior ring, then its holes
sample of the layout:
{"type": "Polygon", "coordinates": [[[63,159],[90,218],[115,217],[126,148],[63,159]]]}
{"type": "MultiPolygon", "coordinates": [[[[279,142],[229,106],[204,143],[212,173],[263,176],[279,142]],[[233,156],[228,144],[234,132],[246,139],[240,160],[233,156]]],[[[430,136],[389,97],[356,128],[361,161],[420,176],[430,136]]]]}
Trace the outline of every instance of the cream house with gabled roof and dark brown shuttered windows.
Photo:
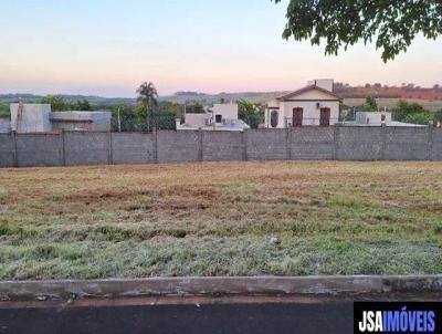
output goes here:
{"type": "Polygon", "coordinates": [[[330,126],[338,123],[340,98],[334,81],[314,80],[307,86],[267,103],[265,127],[330,126]]]}

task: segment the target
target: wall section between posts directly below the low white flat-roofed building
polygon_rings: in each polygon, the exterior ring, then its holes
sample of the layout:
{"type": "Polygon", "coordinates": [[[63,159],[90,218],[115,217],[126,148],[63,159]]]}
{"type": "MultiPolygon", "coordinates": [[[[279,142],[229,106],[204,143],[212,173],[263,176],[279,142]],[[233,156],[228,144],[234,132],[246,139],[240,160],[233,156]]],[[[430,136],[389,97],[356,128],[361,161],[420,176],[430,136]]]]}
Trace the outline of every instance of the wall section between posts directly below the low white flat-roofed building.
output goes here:
{"type": "Polygon", "coordinates": [[[242,160],[245,152],[244,134],[238,132],[203,132],[204,161],[242,160]]]}

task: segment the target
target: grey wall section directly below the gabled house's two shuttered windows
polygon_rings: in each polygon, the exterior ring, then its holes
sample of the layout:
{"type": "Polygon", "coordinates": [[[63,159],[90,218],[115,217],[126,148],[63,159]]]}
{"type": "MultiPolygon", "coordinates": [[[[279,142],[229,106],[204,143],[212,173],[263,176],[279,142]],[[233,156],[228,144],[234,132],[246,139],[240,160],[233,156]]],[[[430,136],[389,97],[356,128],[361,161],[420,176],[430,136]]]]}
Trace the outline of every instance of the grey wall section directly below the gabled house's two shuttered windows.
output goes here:
{"type": "Polygon", "coordinates": [[[333,160],[335,157],[334,128],[298,127],[291,129],[292,160],[333,160]]]}

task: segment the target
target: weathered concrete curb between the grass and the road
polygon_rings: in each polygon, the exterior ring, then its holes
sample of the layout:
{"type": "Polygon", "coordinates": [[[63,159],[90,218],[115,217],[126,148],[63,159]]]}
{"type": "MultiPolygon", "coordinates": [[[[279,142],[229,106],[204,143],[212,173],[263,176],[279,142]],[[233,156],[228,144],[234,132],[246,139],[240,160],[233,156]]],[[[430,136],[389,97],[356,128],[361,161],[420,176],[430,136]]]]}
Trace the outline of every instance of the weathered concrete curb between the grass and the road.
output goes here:
{"type": "Polygon", "coordinates": [[[0,300],[141,296],[351,295],[442,292],[442,275],[154,278],[92,281],[3,281],[0,300]]]}

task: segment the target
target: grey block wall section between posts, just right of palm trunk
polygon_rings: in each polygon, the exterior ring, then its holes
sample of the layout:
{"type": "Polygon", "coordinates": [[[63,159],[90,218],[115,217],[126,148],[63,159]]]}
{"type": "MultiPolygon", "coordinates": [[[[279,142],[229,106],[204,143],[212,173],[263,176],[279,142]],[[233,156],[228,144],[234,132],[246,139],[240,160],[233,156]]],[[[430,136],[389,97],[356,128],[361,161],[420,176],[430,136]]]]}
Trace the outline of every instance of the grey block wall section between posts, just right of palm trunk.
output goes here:
{"type": "Polygon", "coordinates": [[[201,133],[198,131],[160,131],[157,137],[157,161],[188,163],[201,160],[201,133]]]}

